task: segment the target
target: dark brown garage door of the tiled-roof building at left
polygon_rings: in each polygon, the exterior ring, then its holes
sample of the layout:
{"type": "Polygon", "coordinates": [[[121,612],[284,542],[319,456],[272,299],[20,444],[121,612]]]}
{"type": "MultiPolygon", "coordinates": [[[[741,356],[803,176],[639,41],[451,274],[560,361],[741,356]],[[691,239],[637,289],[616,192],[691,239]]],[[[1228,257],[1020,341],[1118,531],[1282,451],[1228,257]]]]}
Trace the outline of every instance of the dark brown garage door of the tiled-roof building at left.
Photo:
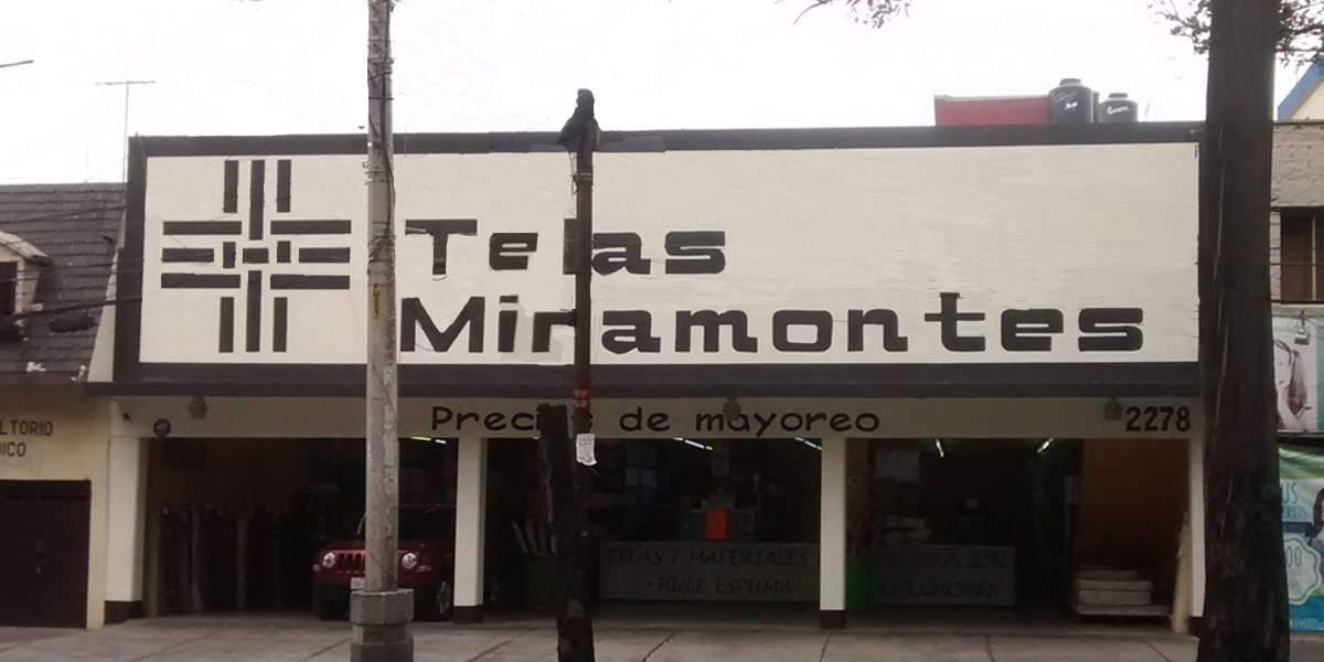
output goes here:
{"type": "Polygon", "coordinates": [[[87,625],[87,481],[0,481],[0,625],[87,625]]]}

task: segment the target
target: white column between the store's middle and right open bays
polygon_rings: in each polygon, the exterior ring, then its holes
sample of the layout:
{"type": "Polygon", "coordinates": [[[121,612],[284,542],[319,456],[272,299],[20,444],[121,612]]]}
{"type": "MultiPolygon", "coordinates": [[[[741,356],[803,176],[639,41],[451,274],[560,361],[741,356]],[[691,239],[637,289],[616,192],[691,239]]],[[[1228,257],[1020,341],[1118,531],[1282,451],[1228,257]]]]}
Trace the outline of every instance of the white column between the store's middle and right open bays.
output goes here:
{"type": "Polygon", "coordinates": [[[846,626],[846,440],[822,440],[818,535],[818,624],[846,626]]]}

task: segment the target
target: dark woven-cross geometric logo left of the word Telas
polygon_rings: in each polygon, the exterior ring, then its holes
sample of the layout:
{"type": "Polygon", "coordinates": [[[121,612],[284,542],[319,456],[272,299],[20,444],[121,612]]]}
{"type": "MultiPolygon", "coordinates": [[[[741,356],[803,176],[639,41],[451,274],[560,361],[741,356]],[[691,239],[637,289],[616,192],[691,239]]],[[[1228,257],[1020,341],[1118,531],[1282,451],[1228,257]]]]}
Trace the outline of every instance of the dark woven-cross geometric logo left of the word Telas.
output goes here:
{"type": "Polygon", "coordinates": [[[297,265],[350,265],[350,246],[299,248],[294,253],[291,238],[310,236],[348,237],[352,224],[340,218],[306,220],[291,216],[291,162],[275,162],[275,213],[267,218],[266,160],[248,162],[249,208],[248,222],[238,214],[240,162],[225,162],[221,216],[211,221],[164,221],[166,241],[183,237],[211,237],[213,244],[204,248],[164,248],[162,262],[171,265],[197,265],[192,271],[163,271],[163,289],[222,290],[220,297],[220,328],[217,348],[221,354],[234,352],[234,294],[225,290],[245,290],[245,343],[244,351],[262,351],[263,293],[271,298],[271,350],[286,351],[289,342],[290,299],[287,293],[307,290],[348,290],[350,275],[307,274],[297,265]],[[246,225],[246,228],[245,228],[246,225]],[[207,266],[204,266],[207,265],[207,266]],[[241,266],[242,265],[242,266],[241,266]],[[278,294],[279,293],[279,294],[278,294]]]}

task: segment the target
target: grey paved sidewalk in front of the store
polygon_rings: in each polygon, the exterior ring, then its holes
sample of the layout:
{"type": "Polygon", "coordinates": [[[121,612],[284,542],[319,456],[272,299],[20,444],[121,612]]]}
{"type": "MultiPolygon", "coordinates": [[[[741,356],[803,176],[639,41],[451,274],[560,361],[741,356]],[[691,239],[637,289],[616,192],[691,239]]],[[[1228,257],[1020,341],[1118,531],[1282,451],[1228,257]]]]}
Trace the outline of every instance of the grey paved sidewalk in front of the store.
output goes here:
{"type": "MultiPolygon", "coordinates": [[[[960,630],[960,629],[957,629],[960,630]]],[[[1157,629],[1005,629],[940,634],[861,628],[824,633],[810,626],[673,629],[608,622],[597,632],[601,662],[1193,662],[1196,642],[1157,629]]],[[[542,662],[555,659],[545,624],[414,626],[418,662],[542,662]]],[[[97,632],[0,628],[0,662],[342,662],[346,624],[294,616],[176,617],[97,632]]],[[[1324,662],[1324,639],[1300,638],[1294,661],[1324,662]]]]}

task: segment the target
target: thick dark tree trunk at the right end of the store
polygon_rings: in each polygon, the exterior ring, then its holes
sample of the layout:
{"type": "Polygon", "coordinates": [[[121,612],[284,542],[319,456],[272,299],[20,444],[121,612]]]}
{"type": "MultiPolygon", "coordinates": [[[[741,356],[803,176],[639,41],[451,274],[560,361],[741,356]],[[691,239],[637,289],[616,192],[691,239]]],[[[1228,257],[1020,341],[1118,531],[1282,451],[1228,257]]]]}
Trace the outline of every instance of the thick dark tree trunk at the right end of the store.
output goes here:
{"type": "Polygon", "coordinates": [[[1270,328],[1268,205],[1279,3],[1210,3],[1200,162],[1206,592],[1200,662],[1288,654],[1270,328]]]}

